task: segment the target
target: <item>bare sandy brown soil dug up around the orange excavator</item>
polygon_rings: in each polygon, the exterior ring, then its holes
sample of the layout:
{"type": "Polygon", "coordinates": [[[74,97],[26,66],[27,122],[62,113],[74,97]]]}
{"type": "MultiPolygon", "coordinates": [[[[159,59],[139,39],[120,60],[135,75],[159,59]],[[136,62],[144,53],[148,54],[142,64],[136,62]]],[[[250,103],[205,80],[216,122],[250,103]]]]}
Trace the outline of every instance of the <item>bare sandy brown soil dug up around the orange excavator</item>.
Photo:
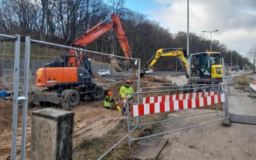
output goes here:
{"type": "MultiPolygon", "coordinates": [[[[22,76],[21,76],[22,79],[22,76]]],[[[34,79],[34,78],[31,78],[34,79]]],[[[135,75],[130,76],[130,79],[137,79],[135,75]]],[[[143,78],[146,82],[170,82],[161,78],[154,78],[150,76],[145,76],[143,78]]],[[[3,79],[0,77],[0,90],[4,88],[6,90],[13,90],[13,77],[10,75],[6,76],[5,84],[3,84],[3,79]]],[[[109,89],[113,93],[114,98],[118,98],[118,91],[120,86],[122,86],[126,79],[122,82],[113,82],[108,81],[105,78],[102,78],[98,74],[94,74],[94,82],[98,84],[104,84],[103,88],[109,89]]],[[[132,83],[132,86],[136,90],[137,84],[136,82],[132,83]]],[[[152,86],[149,83],[142,83],[141,86],[152,86]]],[[[161,84],[154,84],[154,86],[161,86],[161,84]]],[[[20,83],[20,88],[22,88],[22,81],[20,83]]],[[[32,86],[32,90],[38,90],[35,86],[32,86]]],[[[134,91],[135,91],[134,90],[134,91]]],[[[135,96],[134,99],[137,99],[135,96]]],[[[30,136],[31,136],[31,117],[32,112],[34,110],[39,110],[48,106],[40,106],[29,108],[28,110],[28,118],[27,118],[27,143],[26,157],[29,159],[30,157],[30,136]]],[[[56,107],[57,106],[53,106],[56,107]]],[[[12,113],[13,104],[10,101],[0,99],[0,159],[10,159],[10,151],[11,151],[11,142],[12,142],[12,113]]],[[[90,138],[92,136],[102,136],[108,130],[114,128],[118,124],[121,119],[125,117],[122,116],[118,110],[106,110],[103,107],[103,100],[98,102],[81,102],[78,106],[72,109],[74,112],[74,147],[78,145],[79,142],[83,138],[90,138]]],[[[21,139],[22,139],[22,105],[18,106],[18,141],[17,141],[17,159],[20,158],[21,151],[21,139]]]]}

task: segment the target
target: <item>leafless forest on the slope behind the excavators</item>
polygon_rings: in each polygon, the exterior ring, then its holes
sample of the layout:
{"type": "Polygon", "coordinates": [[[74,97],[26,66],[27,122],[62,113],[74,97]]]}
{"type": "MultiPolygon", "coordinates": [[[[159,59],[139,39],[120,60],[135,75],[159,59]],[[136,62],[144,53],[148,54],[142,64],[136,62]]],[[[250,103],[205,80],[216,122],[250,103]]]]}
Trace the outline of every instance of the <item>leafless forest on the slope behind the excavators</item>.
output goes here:
{"type": "MultiPolygon", "coordinates": [[[[159,22],[130,10],[125,4],[126,0],[0,0],[0,34],[21,34],[22,40],[30,36],[66,45],[66,42],[81,37],[98,22],[110,18],[110,14],[118,14],[131,54],[133,58],[141,58],[142,64],[149,61],[160,48],[181,47],[186,50],[186,32],[170,33],[159,22]]],[[[113,31],[106,32],[87,45],[86,50],[124,56],[114,36],[113,31]]],[[[210,50],[210,39],[195,33],[190,33],[189,38],[190,53],[210,50]]],[[[218,40],[212,40],[212,50],[221,52],[225,63],[238,65],[240,69],[252,67],[255,63],[255,46],[244,56],[228,49],[218,40]]],[[[162,58],[154,70],[174,70],[175,66],[175,58],[162,58]]]]}

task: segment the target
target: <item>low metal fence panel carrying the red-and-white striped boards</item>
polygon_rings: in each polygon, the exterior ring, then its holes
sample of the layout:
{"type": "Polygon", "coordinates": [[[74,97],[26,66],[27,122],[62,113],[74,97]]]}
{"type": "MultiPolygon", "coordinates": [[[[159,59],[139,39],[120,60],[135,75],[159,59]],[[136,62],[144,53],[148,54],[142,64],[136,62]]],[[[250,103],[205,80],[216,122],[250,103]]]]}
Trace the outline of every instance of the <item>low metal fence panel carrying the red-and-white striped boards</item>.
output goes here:
{"type": "MultiPolygon", "coordinates": [[[[226,76],[225,76],[226,77],[226,76]]],[[[224,90],[215,90],[201,93],[189,93],[186,94],[186,89],[180,90],[154,90],[154,91],[142,91],[140,94],[142,97],[148,94],[157,94],[162,96],[144,97],[142,103],[137,105],[128,106],[131,107],[131,116],[137,117],[139,120],[134,123],[132,117],[128,115],[128,139],[130,142],[137,141],[142,138],[151,138],[163,134],[170,134],[173,132],[187,130],[197,126],[203,126],[212,122],[225,121],[228,119],[226,102],[228,98],[227,90],[225,90],[227,84],[218,86],[204,86],[210,88],[224,88],[224,90]],[[221,87],[225,86],[225,87],[221,87]],[[178,94],[177,94],[178,92],[178,94]],[[185,92],[185,93],[182,93],[185,92]],[[180,94],[182,93],[182,94],[180,94]],[[221,105],[222,104],[222,105],[221,105]],[[219,115],[221,110],[222,115],[219,115]],[[216,116],[209,119],[208,114],[215,113],[216,116]],[[160,114],[162,120],[154,120],[156,114],[160,114]],[[167,114],[167,116],[166,116],[167,114]],[[172,115],[172,116],[170,116],[172,115]],[[167,117],[167,118],[164,118],[167,117]],[[205,121],[207,119],[207,121],[205,121]],[[201,121],[202,120],[202,121],[201,121]],[[153,130],[152,133],[146,136],[137,137],[136,132],[130,133],[130,126],[136,126],[138,128],[145,127],[147,125],[162,125],[167,122],[177,124],[172,127],[172,130],[153,130]],[[186,121],[186,123],[184,122],[186,121]],[[134,124],[133,124],[134,123],[134,124]]],[[[202,86],[200,86],[202,87],[202,86]]],[[[184,88],[180,86],[179,88],[184,88]]],[[[194,86],[192,90],[197,90],[198,87],[194,86]]],[[[191,89],[189,89],[191,90],[191,89]]]]}

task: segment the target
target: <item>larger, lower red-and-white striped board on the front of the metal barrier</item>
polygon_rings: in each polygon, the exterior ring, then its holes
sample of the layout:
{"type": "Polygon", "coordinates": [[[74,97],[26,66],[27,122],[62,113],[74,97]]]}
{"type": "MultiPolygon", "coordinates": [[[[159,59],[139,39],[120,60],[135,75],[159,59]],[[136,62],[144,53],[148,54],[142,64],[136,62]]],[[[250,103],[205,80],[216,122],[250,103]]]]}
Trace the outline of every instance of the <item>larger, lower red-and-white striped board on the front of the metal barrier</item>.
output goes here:
{"type": "Polygon", "coordinates": [[[166,102],[144,103],[131,106],[131,116],[142,116],[147,114],[157,114],[162,112],[169,112],[175,110],[186,110],[198,108],[202,106],[209,106],[225,102],[225,94],[215,94],[212,96],[201,98],[190,98],[166,102]]]}

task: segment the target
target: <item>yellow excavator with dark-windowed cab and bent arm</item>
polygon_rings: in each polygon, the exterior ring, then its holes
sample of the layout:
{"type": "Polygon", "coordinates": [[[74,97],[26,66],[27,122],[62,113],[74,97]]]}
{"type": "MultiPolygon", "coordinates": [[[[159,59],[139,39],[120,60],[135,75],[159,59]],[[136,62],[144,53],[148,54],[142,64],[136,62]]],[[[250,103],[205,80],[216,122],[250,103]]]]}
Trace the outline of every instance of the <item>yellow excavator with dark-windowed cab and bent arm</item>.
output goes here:
{"type": "Polygon", "coordinates": [[[182,48],[166,48],[157,50],[150,61],[141,68],[140,76],[150,70],[162,57],[177,56],[186,71],[188,84],[212,84],[222,82],[222,58],[219,52],[200,52],[186,54],[182,48]]]}

